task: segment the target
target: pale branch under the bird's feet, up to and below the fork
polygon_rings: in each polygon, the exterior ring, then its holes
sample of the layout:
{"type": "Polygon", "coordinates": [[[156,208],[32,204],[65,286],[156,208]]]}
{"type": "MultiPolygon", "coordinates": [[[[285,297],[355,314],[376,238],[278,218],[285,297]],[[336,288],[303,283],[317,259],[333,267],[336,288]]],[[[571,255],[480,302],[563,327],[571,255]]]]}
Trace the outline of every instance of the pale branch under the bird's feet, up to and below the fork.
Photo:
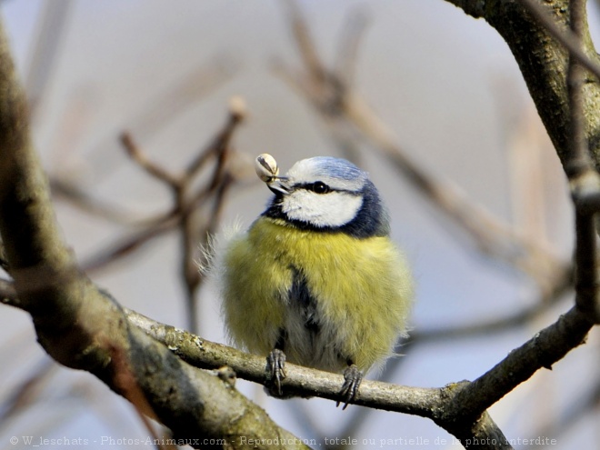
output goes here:
{"type": "MultiPolygon", "coordinates": [[[[207,369],[227,365],[240,378],[262,385],[267,382],[264,357],[248,355],[235,348],[206,341],[173,326],[156,322],[135,311],[127,310],[126,314],[133,324],[165,344],[175,355],[191,365],[207,369]]],[[[287,374],[283,382],[285,395],[315,395],[339,400],[339,386],[343,382],[341,375],[293,364],[286,364],[285,370],[287,374]]],[[[455,396],[461,392],[461,389],[455,386],[462,385],[424,388],[363,380],[353,404],[429,418],[453,433],[468,448],[496,450],[512,448],[487,413],[475,418],[469,415],[447,414],[455,405],[455,396]]]]}

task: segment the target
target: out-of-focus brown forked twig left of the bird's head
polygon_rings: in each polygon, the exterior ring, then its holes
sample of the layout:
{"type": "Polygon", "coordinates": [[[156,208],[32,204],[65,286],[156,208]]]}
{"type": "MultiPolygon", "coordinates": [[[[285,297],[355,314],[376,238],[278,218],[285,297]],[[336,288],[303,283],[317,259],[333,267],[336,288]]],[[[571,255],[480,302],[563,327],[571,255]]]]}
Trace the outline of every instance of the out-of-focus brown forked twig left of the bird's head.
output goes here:
{"type": "MultiPolygon", "coordinates": [[[[122,133],[120,140],[126,154],[148,175],[163,183],[171,191],[173,204],[159,215],[135,221],[141,229],[136,230],[132,235],[120,238],[115,244],[108,245],[107,248],[90,257],[83,264],[85,272],[93,272],[113,264],[118,259],[135,253],[156,237],[175,230],[181,239],[181,279],[186,295],[187,326],[197,332],[196,294],[203,281],[202,274],[197,269],[197,259],[202,255],[197,255],[197,249],[206,244],[208,235],[215,233],[225,195],[240,178],[229,164],[229,160],[232,153],[231,140],[244,118],[244,100],[241,97],[234,97],[231,100],[225,125],[188,163],[182,173],[170,173],[162,165],[151,161],[135,143],[130,133],[122,133]],[[212,172],[208,181],[198,186],[197,179],[213,160],[216,160],[216,163],[209,169],[212,172]],[[201,224],[201,220],[205,217],[208,217],[206,223],[201,224]]],[[[76,187],[65,185],[60,180],[53,180],[52,185],[60,194],[66,195],[85,211],[126,222],[123,220],[125,215],[121,215],[120,211],[110,205],[92,200],[89,195],[85,195],[76,187]]]]}

